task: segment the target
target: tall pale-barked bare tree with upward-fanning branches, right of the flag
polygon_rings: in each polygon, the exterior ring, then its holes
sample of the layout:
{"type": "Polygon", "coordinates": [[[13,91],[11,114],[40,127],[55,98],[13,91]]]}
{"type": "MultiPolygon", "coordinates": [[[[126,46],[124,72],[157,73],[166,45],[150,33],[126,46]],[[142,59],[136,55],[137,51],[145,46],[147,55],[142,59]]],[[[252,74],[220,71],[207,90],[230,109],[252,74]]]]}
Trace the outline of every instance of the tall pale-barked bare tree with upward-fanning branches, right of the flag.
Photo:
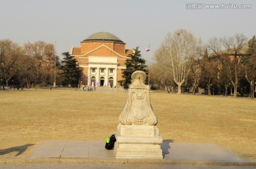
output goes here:
{"type": "Polygon", "coordinates": [[[174,78],[178,85],[178,94],[181,94],[181,86],[186,82],[194,56],[194,49],[198,40],[187,30],[176,30],[168,33],[161,44],[155,58],[159,66],[174,78]],[[159,56],[160,55],[160,56],[159,56]]]}

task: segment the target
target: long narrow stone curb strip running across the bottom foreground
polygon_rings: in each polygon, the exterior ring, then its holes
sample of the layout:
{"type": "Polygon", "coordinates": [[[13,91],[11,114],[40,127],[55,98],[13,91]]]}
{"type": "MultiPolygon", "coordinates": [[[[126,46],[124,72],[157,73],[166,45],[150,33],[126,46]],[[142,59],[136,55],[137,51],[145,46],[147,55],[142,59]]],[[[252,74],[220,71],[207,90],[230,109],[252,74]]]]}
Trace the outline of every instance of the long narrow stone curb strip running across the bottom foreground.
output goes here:
{"type": "Polygon", "coordinates": [[[218,166],[248,166],[256,167],[256,162],[233,161],[167,161],[154,159],[103,159],[103,158],[6,158],[0,159],[0,165],[4,164],[72,164],[72,163],[101,163],[101,164],[132,164],[132,165],[218,165],[218,166]]]}

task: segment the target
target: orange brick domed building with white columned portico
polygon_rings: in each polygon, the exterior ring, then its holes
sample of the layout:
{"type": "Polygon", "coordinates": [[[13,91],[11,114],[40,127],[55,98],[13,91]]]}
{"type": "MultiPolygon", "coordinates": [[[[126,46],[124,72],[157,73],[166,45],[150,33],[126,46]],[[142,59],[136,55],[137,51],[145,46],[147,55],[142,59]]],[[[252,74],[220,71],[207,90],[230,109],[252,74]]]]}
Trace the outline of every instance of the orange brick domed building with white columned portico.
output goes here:
{"type": "Polygon", "coordinates": [[[80,84],[87,86],[119,86],[122,69],[126,69],[127,55],[133,49],[125,49],[125,43],[112,33],[94,33],[72,47],[71,55],[78,61],[83,76],[80,84]]]}

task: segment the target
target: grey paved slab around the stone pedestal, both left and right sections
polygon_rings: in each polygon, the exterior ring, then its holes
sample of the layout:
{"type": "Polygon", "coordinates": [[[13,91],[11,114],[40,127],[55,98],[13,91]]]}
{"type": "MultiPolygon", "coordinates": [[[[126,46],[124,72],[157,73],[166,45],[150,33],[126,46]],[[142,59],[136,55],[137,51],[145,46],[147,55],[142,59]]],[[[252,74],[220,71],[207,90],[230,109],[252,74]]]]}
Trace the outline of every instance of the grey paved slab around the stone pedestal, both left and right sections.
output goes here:
{"type": "MultiPolygon", "coordinates": [[[[161,145],[164,161],[249,162],[216,144],[170,143],[161,145]]],[[[115,159],[104,141],[43,141],[28,155],[33,158],[99,158],[115,159]]]]}

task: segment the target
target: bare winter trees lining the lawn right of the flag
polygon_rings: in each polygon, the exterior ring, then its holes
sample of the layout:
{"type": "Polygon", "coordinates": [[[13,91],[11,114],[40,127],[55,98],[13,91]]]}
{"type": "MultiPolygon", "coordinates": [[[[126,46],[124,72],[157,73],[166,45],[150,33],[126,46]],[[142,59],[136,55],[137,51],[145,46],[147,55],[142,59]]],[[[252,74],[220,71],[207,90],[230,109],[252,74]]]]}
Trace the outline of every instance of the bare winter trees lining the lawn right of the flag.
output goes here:
{"type": "Polygon", "coordinates": [[[203,89],[208,95],[255,93],[256,38],[214,37],[206,44],[187,30],[168,33],[149,66],[151,83],[178,93],[203,89]]]}

